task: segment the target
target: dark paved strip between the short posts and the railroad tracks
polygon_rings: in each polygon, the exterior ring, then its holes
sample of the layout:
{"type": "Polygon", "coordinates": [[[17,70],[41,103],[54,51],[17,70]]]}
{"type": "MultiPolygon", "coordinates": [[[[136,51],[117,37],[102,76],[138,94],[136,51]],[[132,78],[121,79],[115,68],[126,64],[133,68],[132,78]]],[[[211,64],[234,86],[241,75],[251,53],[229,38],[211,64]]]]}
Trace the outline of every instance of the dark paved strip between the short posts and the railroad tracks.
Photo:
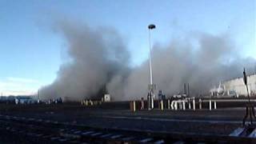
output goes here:
{"type": "Polygon", "coordinates": [[[230,134],[242,126],[245,110],[109,110],[76,104],[6,106],[1,114],[42,120],[73,122],[86,126],[129,130],[171,131],[197,134],[230,134]]]}

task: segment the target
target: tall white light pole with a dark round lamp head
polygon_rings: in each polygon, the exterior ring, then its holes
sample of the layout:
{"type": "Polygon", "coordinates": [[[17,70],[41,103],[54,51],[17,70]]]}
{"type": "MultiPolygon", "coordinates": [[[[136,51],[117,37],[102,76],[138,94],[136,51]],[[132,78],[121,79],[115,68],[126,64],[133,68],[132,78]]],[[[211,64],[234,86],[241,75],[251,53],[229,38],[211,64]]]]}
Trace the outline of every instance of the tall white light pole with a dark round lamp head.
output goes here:
{"type": "Polygon", "coordinates": [[[155,85],[153,84],[153,72],[152,72],[152,56],[151,56],[151,38],[150,38],[150,30],[155,29],[154,24],[150,24],[149,28],[149,41],[150,41],[150,86],[149,86],[149,93],[148,93],[148,110],[154,109],[154,88],[155,85]]]}

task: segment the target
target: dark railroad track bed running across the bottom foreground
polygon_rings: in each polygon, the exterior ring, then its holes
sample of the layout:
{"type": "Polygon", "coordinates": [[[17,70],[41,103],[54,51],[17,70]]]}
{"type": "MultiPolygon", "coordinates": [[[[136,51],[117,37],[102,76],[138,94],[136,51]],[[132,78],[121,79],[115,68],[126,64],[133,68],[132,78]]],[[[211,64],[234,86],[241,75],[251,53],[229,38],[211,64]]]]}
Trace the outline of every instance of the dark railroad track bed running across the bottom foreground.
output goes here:
{"type": "MultiPolygon", "coordinates": [[[[20,143],[254,143],[255,138],[223,134],[175,133],[151,130],[97,128],[0,114],[1,134],[20,143]],[[21,140],[19,140],[21,139],[21,140]]],[[[2,137],[2,136],[1,136],[2,137]]],[[[17,143],[17,142],[16,142],[17,143]]]]}

